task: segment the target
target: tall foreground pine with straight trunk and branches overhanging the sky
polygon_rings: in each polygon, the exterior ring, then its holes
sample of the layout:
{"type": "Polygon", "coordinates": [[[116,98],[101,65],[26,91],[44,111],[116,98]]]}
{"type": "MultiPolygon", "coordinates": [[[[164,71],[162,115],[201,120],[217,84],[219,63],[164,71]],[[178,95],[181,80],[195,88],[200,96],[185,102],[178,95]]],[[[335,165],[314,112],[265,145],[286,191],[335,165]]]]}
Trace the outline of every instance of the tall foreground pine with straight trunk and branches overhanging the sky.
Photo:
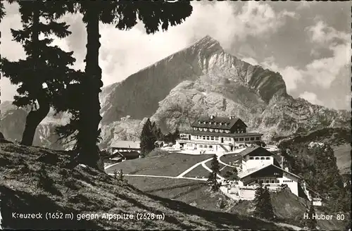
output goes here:
{"type": "Polygon", "coordinates": [[[99,147],[96,144],[101,132],[99,93],[103,86],[99,67],[101,46],[99,22],[113,23],[120,30],[129,30],[140,20],[144,23],[146,33],[151,34],[181,24],[191,15],[192,7],[187,1],[64,1],[64,3],[74,4],[73,9],[82,13],[83,22],[87,27],[87,55],[84,60],[87,80],[82,85],[84,101],[80,107],[81,137],[78,146],[85,163],[96,168],[99,159],[99,147]]]}

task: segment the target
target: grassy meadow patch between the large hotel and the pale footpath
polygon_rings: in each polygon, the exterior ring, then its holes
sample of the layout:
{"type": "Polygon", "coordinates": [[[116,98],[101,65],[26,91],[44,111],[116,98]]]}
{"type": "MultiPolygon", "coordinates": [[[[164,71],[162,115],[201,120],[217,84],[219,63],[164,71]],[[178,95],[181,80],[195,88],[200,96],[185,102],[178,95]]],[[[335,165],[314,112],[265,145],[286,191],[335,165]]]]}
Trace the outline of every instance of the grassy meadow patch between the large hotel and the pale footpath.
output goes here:
{"type": "Polygon", "coordinates": [[[166,175],[176,177],[200,161],[211,158],[212,155],[187,155],[171,153],[164,156],[152,156],[123,161],[112,168],[108,173],[122,169],[125,174],[166,175]]]}

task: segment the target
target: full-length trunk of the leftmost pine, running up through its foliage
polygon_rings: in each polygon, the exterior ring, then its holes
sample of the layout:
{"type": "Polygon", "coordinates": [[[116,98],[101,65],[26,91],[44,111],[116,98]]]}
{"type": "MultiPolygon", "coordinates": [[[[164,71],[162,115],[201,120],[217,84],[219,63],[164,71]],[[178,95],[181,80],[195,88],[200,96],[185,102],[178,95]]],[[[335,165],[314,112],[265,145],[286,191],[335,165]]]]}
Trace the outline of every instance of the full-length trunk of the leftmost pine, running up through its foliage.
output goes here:
{"type": "MultiPolygon", "coordinates": [[[[34,4],[34,3],[33,3],[34,4]]],[[[33,144],[35,130],[37,129],[38,125],[42,120],[48,115],[50,106],[49,102],[46,99],[45,90],[42,89],[42,83],[38,82],[38,73],[39,70],[39,8],[34,8],[33,11],[33,18],[32,18],[32,57],[33,57],[33,71],[32,71],[32,82],[35,89],[30,89],[31,94],[36,96],[39,109],[37,111],[30,111],[27,115],[25,121],[25,130],[23,131],[22,141],[21,144],[30,146],[33,144]]]]}

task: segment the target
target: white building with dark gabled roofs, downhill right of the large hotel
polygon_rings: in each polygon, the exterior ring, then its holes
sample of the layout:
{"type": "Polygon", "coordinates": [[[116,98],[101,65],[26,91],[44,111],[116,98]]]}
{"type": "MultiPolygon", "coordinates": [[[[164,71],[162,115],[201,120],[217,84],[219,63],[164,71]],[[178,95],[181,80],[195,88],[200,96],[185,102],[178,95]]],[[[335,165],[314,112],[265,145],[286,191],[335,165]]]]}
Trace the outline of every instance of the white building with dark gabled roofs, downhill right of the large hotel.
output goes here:
{"type": "Polygon", "coordinates": [[[298,196],[298,175],[290,173],[279,166],[274,154],[261,146],[253,146],[241,151],[235,158],[241,161],[240,186],[243,189],[256,189],[260,182],[276,190],[280,185],[287,185],[298,196]]]}

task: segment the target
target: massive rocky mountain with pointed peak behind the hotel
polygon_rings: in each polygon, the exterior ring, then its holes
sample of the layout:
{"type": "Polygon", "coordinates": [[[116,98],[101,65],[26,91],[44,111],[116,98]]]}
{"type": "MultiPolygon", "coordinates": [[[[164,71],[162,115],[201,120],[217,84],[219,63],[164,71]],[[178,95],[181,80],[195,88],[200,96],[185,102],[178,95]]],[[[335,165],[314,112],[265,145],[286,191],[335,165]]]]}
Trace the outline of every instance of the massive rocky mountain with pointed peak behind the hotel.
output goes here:
{"type": "MultiPolygon", "coordinates": [[[[4,114],[1,110],[1,132],[13,139],[24,123],[13,121],[23,120],[25,114],[14,110],[4,114]]],[[[104,87],[101,114],[101,147],[113,139],[138,139],[147,117],[170,132],[189,128],[199,115],[236,115],[250,130],[265,133],[266,140],[324,127],[349,127],[351,119],[346,111],[294,99],[279,73],[239,60],[208,36],[104,87]]],[[[43,125],[51,130],[66,117],[48,118],[43,125]]],[[[39,127],[36,137],[51,134],[44,130],[39,127]]],[[[46,137],[42,144],[46,139],[51,142],[46,137]]]]}

